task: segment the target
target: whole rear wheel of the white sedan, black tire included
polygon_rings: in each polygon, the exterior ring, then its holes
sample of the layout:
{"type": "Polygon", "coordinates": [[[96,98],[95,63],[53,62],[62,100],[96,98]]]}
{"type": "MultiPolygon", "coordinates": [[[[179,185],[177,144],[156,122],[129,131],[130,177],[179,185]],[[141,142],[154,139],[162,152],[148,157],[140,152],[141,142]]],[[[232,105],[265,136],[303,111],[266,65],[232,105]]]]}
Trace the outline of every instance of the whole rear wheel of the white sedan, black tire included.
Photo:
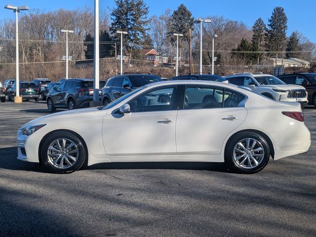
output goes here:
{"type": "Polygon", "coordinates": [[[260,134],[256,132],[250,132],[250,131],[239,132],[229,139],[228,144],[225,147],[225,163],[237,173],[253,174],[253,173],[259,172],[268,164],[269,158],[270,158],[269,144],[263,136],[261,136],[260,134]],[[238,144],[241,142],[241,144],[244,146],[243,148],[248,148],[246,147],[246,141],[248,139],[249,139],[248,147],[251,147],[253,145],[252,141],[256,141],[254,148],[251,150],[249,150],[250,148],[242,149],[241,146],[239,146],[238,144]],[[242,142],[244,140],[245,140],[245,143],[242,142]],[[237,150],[235,150],[236,146],[237,146],[237,150]],[[259,149],[262,149],[262,150],[255,151],[259,149]],[[241,151],[241,152],[239,153],[238,151],[241,151]],[[257,160],[258,164],[254,162],[254,159],[257,160]],[[250,165],[249,165],[249,161],[250,161],[250,165]],[[252,167],[252,164],[255,167],[252,167]]]}

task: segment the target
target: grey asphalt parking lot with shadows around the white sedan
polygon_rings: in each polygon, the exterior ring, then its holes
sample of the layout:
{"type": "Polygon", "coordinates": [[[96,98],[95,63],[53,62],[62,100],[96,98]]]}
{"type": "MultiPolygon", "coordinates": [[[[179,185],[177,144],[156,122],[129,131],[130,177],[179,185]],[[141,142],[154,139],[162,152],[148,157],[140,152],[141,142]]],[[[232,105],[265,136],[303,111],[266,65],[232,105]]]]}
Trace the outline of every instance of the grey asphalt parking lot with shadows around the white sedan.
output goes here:
{"type": "Polygon", "coordinates": [[[107,163],[67,175],[17,160],[45,102],[0,103],[0,237],[316,236],[316,109],[307,154],[253,175],[209,163],[107,163]]]}

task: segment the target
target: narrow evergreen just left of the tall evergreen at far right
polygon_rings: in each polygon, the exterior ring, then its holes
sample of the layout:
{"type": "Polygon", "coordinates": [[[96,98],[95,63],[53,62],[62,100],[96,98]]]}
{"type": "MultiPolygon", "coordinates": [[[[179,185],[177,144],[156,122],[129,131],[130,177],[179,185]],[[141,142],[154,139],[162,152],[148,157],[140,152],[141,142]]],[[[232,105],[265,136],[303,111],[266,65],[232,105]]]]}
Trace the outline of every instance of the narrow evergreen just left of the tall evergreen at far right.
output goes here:
{"type": "MultiPolygon", "coordinates": [[[[251,43],[252,43],[252,48],[253,51],[264,51],[264,40],[265,40],[265,33],[266,33],[266,24],[263,22],[263,20],[259,17],[254,25],[252,26],[252,39],[251,39],[251,43]]],[[[257,63],[259,64],[260,60],[263,57],[263,53],[255,53],[253,54],[254,56],[254,60],[257,60],[257,63]]]]}

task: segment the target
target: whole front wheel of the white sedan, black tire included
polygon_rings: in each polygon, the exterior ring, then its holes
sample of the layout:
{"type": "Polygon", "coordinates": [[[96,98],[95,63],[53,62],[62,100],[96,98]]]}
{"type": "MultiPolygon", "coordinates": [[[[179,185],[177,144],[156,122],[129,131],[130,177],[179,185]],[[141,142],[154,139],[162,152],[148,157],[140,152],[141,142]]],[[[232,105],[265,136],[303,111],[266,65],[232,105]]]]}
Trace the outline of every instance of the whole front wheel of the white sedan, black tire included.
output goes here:
{"type": "MultiPolygon", "coordinates": [[[[54,148],[58,147],[56,145],[53,145],[54,148]]],[[[47,168],[50,172],[52,173],[57,173],[57,174],[66,174],[66,173],[71,173],[83,165],[87,152],[85,150],[85,147],[83,145],[83,142],[80,140],[78,136],[71,132],[55,132],[51,135],[49,135],[47,138],[45,138],[44,143],[41,147],[40,150],[41,154],[41,160],[42,164],[44,165],[45,168],[47,168]],[[65,147],[67,148],[69,145],[72,143],[75,144],[68,150],[65,150],[62,144],[62,139],[64,139],[65,142],[65,147]],[[56,144],[56,140],[59,140],[60,146],[61,146],[61,152],[57,151],[51,151],[48,148],[52,146],[52,144],[56,144]],[[78,151],[76,155],[74,155],[74,151],[78,151]],[[76,158],[76,160],[71,159],[69,155],[67,155],[67,152],[70,151],[73,153],[70,154],[73,158],[76,158]],[[51,155],[48,156],[48,153],[51,155]],[[52,154],[53,153],[53,154],[52,154]],[[54,154],[55,153],[55,154],[54,154]],[[59,155],[62,154],[63,155],[59,155]],[[56,160],[57,159],[57,160],[56,160]],[[66,160],[67,159],[67,160],[66,160]],[[69,163],[72,162],[72,163],[69,163]],[[60,165],[62,163],[62,165],[60,165]],[[58,167],[57,167],[58,166],[58,167]],[[63,166],[63,168],[60,168],[63,166]],[[69,166],[69,167],[68,167],[69,166]]]]}

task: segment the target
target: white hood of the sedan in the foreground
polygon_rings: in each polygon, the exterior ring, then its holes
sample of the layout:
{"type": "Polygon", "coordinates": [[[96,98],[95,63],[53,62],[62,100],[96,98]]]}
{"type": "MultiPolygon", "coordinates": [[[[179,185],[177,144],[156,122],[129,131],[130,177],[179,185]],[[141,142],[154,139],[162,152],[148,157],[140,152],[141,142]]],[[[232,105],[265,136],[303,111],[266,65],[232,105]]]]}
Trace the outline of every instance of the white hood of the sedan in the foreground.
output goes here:
{"type": "Polygon", "coordinates": [[[78,118],[78,117],[86,117],[86,116],[92,116],[95,112],[97,112],[96,107],[91,108],[85,108],[85,109],[78,109],[78,110],[68,110],[63,112],[58,112],[50,115],[45,115],[40,118],[33,119],[29,121],[28,123],[24,124],[24,126],[30,126],[30,125],[39,125],[44,124],[52,120],[56,119],[63,119],[63,118],[78,118]]]}

